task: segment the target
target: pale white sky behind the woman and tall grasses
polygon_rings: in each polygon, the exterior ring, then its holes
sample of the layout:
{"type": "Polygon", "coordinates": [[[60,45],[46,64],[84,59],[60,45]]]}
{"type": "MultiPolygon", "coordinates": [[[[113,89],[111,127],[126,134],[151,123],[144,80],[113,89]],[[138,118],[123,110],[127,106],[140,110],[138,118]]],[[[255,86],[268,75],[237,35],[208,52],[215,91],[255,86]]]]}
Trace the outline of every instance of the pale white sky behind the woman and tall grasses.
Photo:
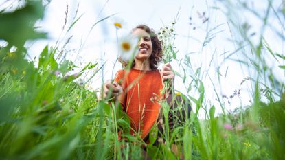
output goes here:
{"type": "MultiPolygon", "coordinates": [[[[249,7],[262,14],[266,3],[254,2],[248,1],[247,3],[249,7]]],[[[224,1],[224,3],[227,2],[224,1]]],[[[273,5],[277,6],[280,3],[281,1],[276,0],[273,5]]],[[[190,76],[194,76],[196,69],[201,67],[201,76],[199,78],[203,80],[205,87],[205,106],[219,106],[218,101],[215,100],[216,92],[229,98],[235,90],[240,89],[240,96],[232,99],[224,98],[226,110],[229,111],[236,108],[236,106],[250,104],[252,98],[252,95],[249,94],[251,83],[247,81],[241,84],[241,82],[244,78],[254,77],[255,75],[251,73],[248,67],[242,67],[240,63],[233,60],[225,60],[225,57],[239,47],[236,43],[233,43],[233,40],[240,39],[234,30],[229,30],[231,23],[227,21],[227,17],[233,16],[240,24],[249,23],[251,27],[249,27],[249,33],[247,34],[255,33],[255,36],[249,38],[256,44],[258,43],[262,24],[262,21],[256,19],[253,14],[241,11],[238,10],[238,6],[235,4],[225,6],[216,0],[54,0],[47,5],[45,18],[37,23],[38,26],[41,26],[41,31],[48,33],[49,38],[27,43],[27,47],[29,47],[30,58],[38,58],[38,54],[45,45],[58,45],[61,48],[70,38],[64,51],[67,53],[66,58],[72,60],[76,65],[82,67],[88,62],[98,62],[100,66],[106,62],[101,70],[102,72],[96,74],[87,84],[88,88],[98,91],[102,81],[105,82],[113,78],[115,71],[122,68],[119,62],[116,62],[118,52],[117,36],[119,38],[128,34],[133,27],[139,24],[146,24],[155,31],[159,31],[161,27],[170,26],[175,21],[174,32],[176,33],[176,39],[174,44],[178,51],[177,59],[179,60],[172,62],[172,67],[175,71],[183,73],[179,63],[183,62],[185,55],[187,55],[194,69],[194,71],[190,68],[185,70],[187,75],[185,83],[179,76],[176,76],[175,89],[198,98],[198,92],[193,84],[189,93],[187,93],[187,88],[192,80],[190,76]],[[111,17],[94,25],[107,16],[111,17]],[[76,19],[78,21],[67,32],[69,26],[76,19]],[[122,29],[117,30],[113,25],[115,22],[122,23],[122,29]],[[203,46],[205,40],[209,42],[203,46]],[[217,76],[217,69],[219,69],[219,77],[217,76]],[[230,100],[230,103],[227,103],[228,100],[230,100]]],[[[269,21],[272,24],[277,23],[275,19],[269,21]]],[[[280,28],[280,25],[275,25],[275,27],[280,28]]],[[[284,54],[284,41],[275,38],[275,34],[271,30],[266,30],[264,33],[264,36],[271,40],[268,43],[274,51],[284,54]]],[[[243,56],[237,53],[231,58],[242,60],[243,56]]],[[[269,64],[270,62],[269,60],[269,64]]],[[[276,64],[271,65],[275,67],[276,64]]],[[[277,71],[277,74],[284,75],[282,71],[274,70],[277,71]]],[[[91,76],[93,72],[90,71],[87,76],[91,76]]],[[[221,108],[216,108],[216,113],[221,112],[221,108]]],[[[204,113],[201,112],[201,114],[204,113]]],[[[203,117],[203,115],[201,116],[203,117]]]]}

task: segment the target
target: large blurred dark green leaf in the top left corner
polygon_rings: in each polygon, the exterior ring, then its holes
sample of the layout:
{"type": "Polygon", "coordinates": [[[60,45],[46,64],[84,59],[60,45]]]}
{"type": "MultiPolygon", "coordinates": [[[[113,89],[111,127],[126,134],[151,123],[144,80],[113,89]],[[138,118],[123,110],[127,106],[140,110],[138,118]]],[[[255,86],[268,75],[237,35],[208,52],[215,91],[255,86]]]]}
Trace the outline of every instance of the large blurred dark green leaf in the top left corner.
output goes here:
{"type": "Polygon", "coordinates": [[[0,14],[0,39],[23,47],[28,39],[45,38],[45,33],[34,31],[34,23],[43,18],[41,1],[27,1],[27,5],[14,12],[0,14]]]}

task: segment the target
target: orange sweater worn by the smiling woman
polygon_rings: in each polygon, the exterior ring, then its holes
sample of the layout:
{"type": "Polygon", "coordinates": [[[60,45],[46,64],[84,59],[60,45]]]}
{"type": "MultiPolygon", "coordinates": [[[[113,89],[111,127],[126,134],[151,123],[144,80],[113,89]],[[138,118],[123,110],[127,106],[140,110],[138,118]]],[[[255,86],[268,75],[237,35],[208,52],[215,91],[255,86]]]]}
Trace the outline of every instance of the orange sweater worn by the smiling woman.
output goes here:
{"type": "Polygon", "coordinates": [[[161,99],[160,90],[163,85],[159,70],[119,70],[115,82],[121,84],[123,88],[119,100],[130,117],[130,126],[141,138],[146,137],[157,121],[161,108],[158,101],[161,99]]]}

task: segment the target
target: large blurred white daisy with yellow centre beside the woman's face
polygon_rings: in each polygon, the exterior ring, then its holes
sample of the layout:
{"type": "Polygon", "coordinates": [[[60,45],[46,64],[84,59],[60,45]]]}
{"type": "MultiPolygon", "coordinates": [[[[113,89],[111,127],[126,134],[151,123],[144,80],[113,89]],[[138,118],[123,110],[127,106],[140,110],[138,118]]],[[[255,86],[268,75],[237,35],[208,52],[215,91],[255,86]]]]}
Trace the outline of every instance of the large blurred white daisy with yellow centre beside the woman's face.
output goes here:
{"type": "Polygon", "coordinates": [[[137,43],[138,38],[131,36],[130,34],[119,42],[119,57],[127,62],[128,60],[131,60],[133,57],[135,57],[135,54],[137,54],[137,43]]]}

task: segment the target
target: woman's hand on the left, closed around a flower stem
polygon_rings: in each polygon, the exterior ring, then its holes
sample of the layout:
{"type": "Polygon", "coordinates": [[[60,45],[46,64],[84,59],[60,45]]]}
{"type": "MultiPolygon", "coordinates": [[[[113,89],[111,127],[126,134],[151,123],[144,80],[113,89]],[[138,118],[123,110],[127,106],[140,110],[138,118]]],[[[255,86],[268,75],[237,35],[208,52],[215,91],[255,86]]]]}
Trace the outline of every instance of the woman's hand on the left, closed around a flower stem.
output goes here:
{"type": "Polygon", "coordinates": [[[103,86],[103,98],[104,99],[117,99],[122,93],[122,87],[117,82],[107,81],[103,86]]]}

